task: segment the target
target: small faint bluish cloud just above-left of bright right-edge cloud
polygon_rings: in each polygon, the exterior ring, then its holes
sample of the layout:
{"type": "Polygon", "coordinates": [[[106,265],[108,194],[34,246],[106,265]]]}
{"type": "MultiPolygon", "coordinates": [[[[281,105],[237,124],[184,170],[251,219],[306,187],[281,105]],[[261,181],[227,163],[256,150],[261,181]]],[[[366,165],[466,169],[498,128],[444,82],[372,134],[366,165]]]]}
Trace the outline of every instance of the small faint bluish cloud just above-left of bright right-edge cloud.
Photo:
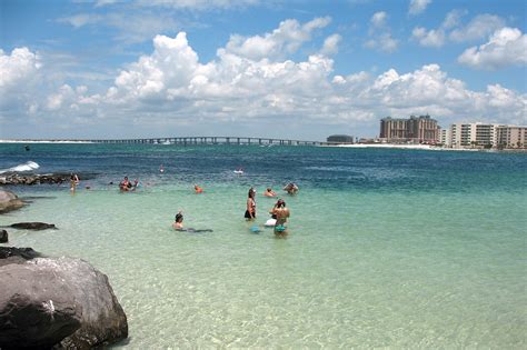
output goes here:
{"type": "Polygon", "coordinates": [[[456,42],[480,40],[504,26],[505,20],[498,16],[479,14],[470,20],[467,26],[453,30],[450,39],[456,42]]]}

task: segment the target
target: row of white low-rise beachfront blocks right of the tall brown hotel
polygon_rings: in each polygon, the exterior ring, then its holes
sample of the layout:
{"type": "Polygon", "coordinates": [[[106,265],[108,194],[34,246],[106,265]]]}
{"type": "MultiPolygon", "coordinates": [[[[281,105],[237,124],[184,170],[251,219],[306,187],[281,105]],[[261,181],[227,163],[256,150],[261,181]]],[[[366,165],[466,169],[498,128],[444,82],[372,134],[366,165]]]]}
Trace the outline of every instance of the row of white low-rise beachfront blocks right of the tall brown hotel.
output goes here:
{"type": "Polygon", "coordinates": [[[450,148],[523,148],[526,127],[495,123],[454,123],[441,133],[441,143],[450,148]]]}

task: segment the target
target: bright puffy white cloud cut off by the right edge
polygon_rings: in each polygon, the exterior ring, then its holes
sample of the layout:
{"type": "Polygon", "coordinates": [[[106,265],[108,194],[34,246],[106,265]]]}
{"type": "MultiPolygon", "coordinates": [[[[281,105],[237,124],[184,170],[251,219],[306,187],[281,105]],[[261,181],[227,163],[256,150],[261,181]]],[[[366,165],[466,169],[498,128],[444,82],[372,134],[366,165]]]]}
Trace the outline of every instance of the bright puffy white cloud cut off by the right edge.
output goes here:
{"type": "Polygon", "coordinates": [[[473,47],[458,57],[458,62],[475,69],[494,70],[527,64],[527,36],[516,28],[497,30],[489,41],[473,47]]]}

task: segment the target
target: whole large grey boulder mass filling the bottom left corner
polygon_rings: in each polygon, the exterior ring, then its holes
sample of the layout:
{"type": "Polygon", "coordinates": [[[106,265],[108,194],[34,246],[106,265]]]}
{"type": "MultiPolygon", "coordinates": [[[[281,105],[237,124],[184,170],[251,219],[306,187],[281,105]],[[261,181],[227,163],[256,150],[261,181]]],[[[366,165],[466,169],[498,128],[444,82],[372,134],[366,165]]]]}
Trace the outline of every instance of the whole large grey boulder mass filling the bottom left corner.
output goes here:
{"type": "Polygon", "coordinates": [[[0,267],[0,348],[105,347],[128,337],[106,274],[71,258],[0,267]]]}

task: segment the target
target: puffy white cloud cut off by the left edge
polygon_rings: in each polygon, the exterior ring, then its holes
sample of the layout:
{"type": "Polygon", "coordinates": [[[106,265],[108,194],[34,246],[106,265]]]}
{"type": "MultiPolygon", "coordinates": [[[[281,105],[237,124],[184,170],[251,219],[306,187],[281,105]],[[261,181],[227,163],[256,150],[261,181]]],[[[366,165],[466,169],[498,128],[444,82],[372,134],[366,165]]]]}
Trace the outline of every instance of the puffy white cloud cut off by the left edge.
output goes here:
{"type": "Polygon", "coordinates": [[[40,68],[40,58],[28,48],[16,48],[11,54],[0,50],[0,88],[23,86],[40,68]]]}

